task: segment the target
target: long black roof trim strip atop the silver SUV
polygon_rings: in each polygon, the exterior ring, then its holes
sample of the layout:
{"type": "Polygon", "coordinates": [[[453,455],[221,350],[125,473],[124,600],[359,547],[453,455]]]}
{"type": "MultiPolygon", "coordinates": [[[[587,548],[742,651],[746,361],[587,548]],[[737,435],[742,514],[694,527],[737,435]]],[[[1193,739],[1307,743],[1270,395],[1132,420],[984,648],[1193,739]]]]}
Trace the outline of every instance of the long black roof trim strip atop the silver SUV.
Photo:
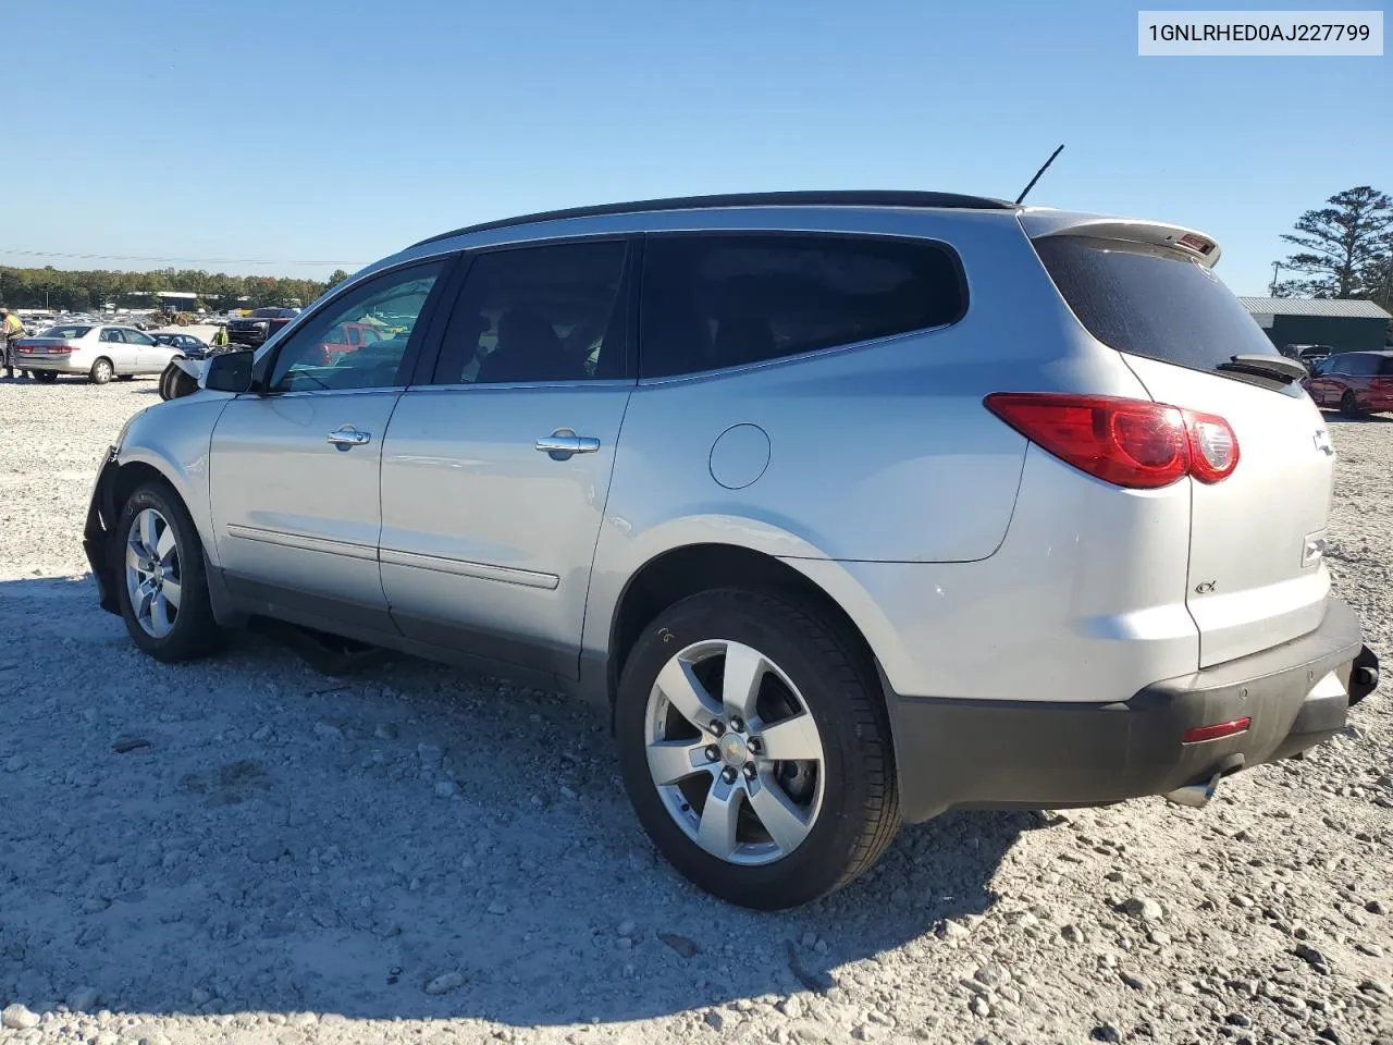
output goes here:
{"type": "Polygon", "coordinates": [[[989,196],[968,196],[961,192],[901,192],[897,189],[837,189],[811,192],[731,192],[717,196],[673,196],[671,199],[642,199],[634,203],[605,203],[600,206],[573,206],[566,210],[543,210],[521,217],[504,217],[499,222],[483,222],[451,233],[432,235],[412,244],[450,240],[468,233],[483,233],[490,229],[535,224],[538,222],[560,222],[567,217],[605,217],[606,215],[642,215],[653,210],[709,210],[731,206],[908,206],[946,208],[958,210],[1014,210],[1015,205],[989,196]]]}

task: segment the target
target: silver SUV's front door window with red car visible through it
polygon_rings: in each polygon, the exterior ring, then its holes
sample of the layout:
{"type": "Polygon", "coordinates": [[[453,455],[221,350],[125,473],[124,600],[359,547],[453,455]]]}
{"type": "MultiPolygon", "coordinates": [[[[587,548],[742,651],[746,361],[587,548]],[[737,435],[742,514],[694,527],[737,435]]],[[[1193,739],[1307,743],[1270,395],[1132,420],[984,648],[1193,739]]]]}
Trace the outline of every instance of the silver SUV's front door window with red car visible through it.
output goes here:
{"type": "Polygon", "coordinates": [[[327,302],[281,344],[270,392],[390,389],[443,262],[368,280],[327,302]],[[368,336],[365,332],[371,332],[368,336]]]}

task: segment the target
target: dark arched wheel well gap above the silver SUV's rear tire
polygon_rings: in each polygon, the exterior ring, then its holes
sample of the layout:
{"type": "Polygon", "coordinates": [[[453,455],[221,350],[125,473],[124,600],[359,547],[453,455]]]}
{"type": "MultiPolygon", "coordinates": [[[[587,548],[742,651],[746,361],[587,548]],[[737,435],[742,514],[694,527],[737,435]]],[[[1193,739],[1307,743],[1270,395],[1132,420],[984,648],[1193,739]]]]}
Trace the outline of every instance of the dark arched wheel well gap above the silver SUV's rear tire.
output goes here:
{"type": "Polygon", "coordinates": [[[734,545],[688,545],[649,560],[630,578],[610,626],[609,694],[618,691],[634,642],[659,613],[678,599],[713,588],[775,592],[812,609],[853,644],[861,665],[875,677],[875,653],[861,628],[822,588],[773,556],[734,545]]]}

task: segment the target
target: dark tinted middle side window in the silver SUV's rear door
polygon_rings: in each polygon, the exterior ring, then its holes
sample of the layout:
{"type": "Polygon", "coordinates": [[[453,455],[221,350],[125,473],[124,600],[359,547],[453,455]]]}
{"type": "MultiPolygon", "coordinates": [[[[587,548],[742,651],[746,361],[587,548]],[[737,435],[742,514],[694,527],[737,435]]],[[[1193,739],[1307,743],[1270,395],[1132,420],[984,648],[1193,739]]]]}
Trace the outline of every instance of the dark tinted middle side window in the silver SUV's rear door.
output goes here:
{"type": "Polygon", "coordinates": [[[450,314],[436,385],[624,376],[621,241],[552,244],[474,258],[450,314]]]}

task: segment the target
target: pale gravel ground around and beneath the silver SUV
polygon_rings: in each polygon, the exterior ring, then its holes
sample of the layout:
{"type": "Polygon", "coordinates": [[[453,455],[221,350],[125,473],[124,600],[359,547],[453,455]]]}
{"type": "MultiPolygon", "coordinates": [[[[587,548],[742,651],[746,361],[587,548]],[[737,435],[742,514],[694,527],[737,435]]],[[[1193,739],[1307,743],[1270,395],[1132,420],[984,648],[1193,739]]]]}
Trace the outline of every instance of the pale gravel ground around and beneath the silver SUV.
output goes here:
{"type": "MultiPolygon", "coordinates": [[[[949,815],[751,914],[552,694],[138,655],[79,538],[155,400],[0,380],[0,1042],[1393,1042],[1387,687],[1205,811],[949,815]]],[[[1393,421],[1330,428],[1330,566],[1393,663],[1393,421]]]]}

